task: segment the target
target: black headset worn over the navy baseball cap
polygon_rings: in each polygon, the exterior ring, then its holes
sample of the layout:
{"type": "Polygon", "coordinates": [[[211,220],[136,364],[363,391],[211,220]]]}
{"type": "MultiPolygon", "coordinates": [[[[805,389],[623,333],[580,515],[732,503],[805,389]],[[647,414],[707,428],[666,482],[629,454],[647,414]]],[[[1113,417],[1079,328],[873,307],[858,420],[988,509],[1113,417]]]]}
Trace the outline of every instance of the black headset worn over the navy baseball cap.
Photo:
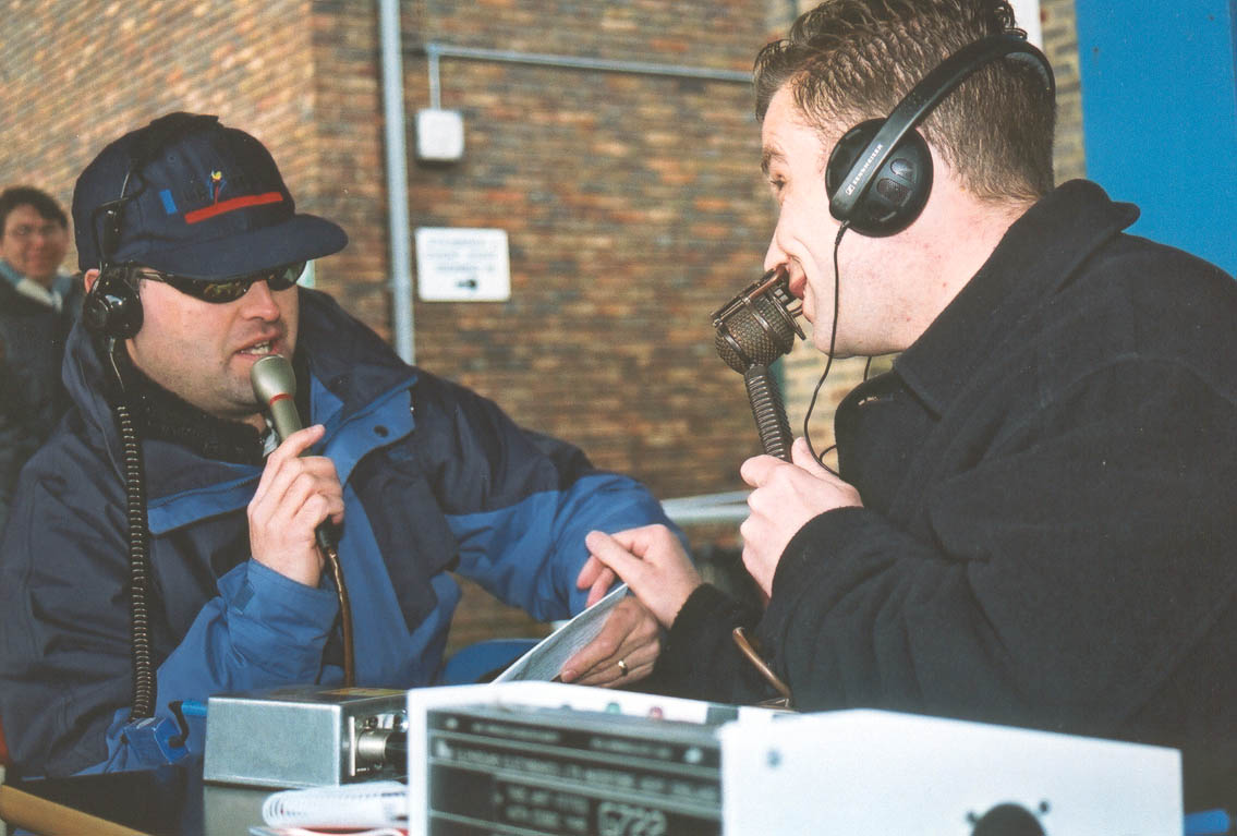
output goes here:
{"type": "Polygon", "coordinates": [[[82,302],[82,322],[100,336],[127,340],[142,326],[142,301],[122,266],[113,263],[120,249],[125,207],[146,190],[146,183],[129,193],[129,181],[158,156],[167,145],[199,127],[219,121],[216,116],[174,113],[156,119],[134,137],[129,150],[129,169],[120,183],[120,197],[101,203],[90,213],[94,249],[99,254],[99,277],[82,302]],[[101,215],[101,218],[100,218],[101,215]]]}

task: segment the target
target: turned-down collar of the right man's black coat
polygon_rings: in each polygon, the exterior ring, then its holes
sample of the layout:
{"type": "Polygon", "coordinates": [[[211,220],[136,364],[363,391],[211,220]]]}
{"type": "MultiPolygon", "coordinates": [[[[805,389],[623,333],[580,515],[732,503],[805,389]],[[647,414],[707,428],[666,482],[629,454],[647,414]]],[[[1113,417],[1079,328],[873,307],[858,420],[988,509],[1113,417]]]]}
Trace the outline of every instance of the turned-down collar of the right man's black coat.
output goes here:
{"type": "Polygon", "coordinates": [[[1058,187],[1009,226],[957,297],[894,361],[894,371],[941,414],[1018,320],[1137,219],[1137,207],[1113,203],[1095,183],[1058,187]]]}

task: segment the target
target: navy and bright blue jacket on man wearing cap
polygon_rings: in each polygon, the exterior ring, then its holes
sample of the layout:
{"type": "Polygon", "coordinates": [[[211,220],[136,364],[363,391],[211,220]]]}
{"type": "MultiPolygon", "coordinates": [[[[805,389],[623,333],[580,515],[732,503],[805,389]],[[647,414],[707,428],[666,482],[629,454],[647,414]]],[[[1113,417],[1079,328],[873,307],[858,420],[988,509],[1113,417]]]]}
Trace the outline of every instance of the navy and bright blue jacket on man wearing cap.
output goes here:
{"type": "MultiPolygon", "coordinates": [[[[586,532],[666,519],[638,484],[404,365],[320,293],[301,291],[299,344],[312,420],[327,427],[315,451],[344,485],[359,685],[434,681],[459,601],[449,570],[536,618],[563,618],[584,605],[586,532]]],[[[0,717],[33,773],[150,766],[121,735],[132,699],[127,540],[101,375],[74,330],[64,378],[75,408],[24,472],[0,545],[0,717]]],[[[261,467],[142,446],[161,711],[225,690],[341,681],[329,581],[310,589],[249,555],[245,508],[261,467]]]]}

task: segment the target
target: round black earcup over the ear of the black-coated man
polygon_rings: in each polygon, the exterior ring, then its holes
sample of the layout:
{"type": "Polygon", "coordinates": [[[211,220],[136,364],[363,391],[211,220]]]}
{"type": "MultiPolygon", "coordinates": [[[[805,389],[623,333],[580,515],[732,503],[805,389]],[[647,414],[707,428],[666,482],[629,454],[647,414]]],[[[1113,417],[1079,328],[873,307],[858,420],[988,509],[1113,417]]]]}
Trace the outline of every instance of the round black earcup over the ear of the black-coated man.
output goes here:
{"type": "MultiPolygon", "coordinates": [[[[825,164],[825,188],[833,195],[842,178],[868,147],[883,119],[870,119],[846,131],[825,164]]],[[[901,232],[919,216],[931,193],[931,153],[919,131],[909,131],[846,218],[850,228],[861,235],[883,237],[901,232]]]]}

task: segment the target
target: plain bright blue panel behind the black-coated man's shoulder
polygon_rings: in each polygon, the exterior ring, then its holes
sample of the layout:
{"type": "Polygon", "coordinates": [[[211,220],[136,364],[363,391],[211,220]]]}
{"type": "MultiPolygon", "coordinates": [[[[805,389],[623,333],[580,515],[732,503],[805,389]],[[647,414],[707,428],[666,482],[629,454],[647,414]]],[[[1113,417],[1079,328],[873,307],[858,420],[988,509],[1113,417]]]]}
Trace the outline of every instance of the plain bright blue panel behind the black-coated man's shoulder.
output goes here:
{"type": "Polygon", "coordinates": [[[1237,273],[1237,0],[1075,0],[1087,176],[1237,273]]]}

